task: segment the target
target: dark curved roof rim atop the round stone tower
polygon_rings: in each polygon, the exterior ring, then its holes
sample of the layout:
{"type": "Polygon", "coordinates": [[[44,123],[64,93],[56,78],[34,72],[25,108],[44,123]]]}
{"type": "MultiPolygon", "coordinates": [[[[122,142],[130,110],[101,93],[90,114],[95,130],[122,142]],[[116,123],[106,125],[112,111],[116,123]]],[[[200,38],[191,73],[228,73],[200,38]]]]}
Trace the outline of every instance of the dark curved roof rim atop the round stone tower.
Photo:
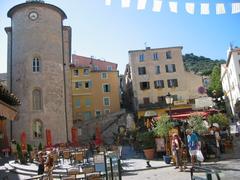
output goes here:
{"type": "Polygon", "coordinates": [[[59,7],[54,6],[52,4],[44,3],[43,0],[27,0],[25,3],[18,4],[16,6],[12,7],[8,11],[7,16],[11,18],[15,11],[17,11],[17,10],[23,8],[23,7],[26,7],[26,6],[33,6],[33,5],[34,6],[43,6],[43,7],[51,8],[51,9],[57,11],[59,14],[61,14],[62,19],[67,19],[67,15],[65,14],[65,12],[62,9],[60,9],[59,7]]]}

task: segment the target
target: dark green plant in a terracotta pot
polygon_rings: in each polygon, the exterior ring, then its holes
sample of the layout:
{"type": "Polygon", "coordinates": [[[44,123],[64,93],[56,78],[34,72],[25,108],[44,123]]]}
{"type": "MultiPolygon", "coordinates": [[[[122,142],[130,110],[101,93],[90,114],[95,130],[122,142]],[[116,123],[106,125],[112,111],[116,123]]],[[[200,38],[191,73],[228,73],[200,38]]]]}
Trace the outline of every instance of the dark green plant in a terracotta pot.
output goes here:
{"type": "Polygon", "coordinates": [[[144,155],[147,160],[152,160],[154,158],[155,152],[155,141],[153,131],[139,132],[137,134],[137,140],[141,143],[144,155]]]}

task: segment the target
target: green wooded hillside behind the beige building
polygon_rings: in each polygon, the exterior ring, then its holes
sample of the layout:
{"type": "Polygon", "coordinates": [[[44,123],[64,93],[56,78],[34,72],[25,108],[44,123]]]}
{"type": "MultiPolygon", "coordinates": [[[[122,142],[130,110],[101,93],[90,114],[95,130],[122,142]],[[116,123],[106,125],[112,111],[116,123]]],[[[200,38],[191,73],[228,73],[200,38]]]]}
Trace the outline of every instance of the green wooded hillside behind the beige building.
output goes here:
{"type": "Polygon", "coordinates": [[[187,71],[195,74],[209,76],[213,67],[226,63],[225,60],[212,60],[204,56],[196,56],[193,53],[183,55],[183,62],[187,71]]]}

